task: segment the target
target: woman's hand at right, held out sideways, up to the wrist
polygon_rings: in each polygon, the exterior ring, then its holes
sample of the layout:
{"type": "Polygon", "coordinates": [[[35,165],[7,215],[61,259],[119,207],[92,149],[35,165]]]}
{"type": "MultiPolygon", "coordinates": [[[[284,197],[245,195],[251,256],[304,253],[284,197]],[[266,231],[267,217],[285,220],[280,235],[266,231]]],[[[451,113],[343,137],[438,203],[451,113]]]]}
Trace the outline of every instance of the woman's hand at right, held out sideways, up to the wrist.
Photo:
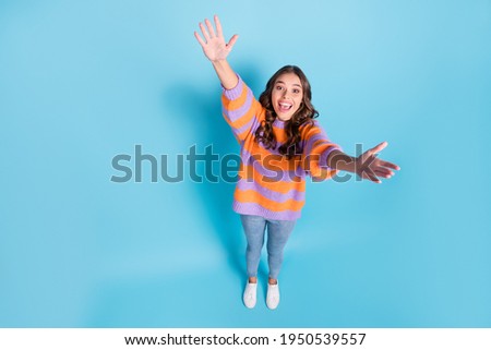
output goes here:
{"type": "Polygon", "coordinates": [[[376,158],[376,154],[386,146],[387,143],[382,142],[356,158],[356,173],[362,179],[368,179],[376,183],[381,182],[379,178],[390,179],[394,176],[393,170],[399,170],[400,168],[395,164],[376,158]]]}

